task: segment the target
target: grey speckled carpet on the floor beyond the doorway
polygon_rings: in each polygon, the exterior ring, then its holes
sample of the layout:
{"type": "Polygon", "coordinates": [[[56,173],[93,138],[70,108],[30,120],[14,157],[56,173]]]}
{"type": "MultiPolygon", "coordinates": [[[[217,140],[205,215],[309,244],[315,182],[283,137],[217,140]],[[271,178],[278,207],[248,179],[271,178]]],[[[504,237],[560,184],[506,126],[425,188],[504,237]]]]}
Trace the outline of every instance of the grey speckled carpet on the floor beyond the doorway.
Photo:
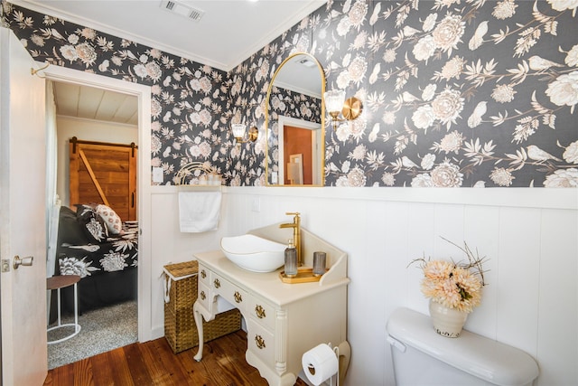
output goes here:
{"type": "MultiPolygon", "coordinates": [[[[62,315],[62,324],[66,323],[74,323],[74,315],[62,315]]],[[[138,340],[136,301],[85,312],[79,315],[79,325],[79,334],[64,342],[48,345],[49,370],[134,344],[138,340]]],[[[62,327],[48,333],[48,339],[57,340],[73,332],[74,327],[62,327]]]]}

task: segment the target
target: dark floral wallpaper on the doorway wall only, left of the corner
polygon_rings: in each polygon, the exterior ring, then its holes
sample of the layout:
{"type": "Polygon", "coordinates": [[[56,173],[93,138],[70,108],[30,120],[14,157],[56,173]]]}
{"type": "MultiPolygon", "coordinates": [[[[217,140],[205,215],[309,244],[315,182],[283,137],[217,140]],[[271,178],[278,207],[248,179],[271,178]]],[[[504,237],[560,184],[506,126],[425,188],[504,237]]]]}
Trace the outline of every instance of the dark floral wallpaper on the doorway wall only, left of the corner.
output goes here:
{"type": "Polygon", "coordinates": [[[238,157],[226,72],[7,2],[2,11],[36,61],[151,86],[152,165],[163,167],[165,184],[187,163],[224,174],[238,157]]]}

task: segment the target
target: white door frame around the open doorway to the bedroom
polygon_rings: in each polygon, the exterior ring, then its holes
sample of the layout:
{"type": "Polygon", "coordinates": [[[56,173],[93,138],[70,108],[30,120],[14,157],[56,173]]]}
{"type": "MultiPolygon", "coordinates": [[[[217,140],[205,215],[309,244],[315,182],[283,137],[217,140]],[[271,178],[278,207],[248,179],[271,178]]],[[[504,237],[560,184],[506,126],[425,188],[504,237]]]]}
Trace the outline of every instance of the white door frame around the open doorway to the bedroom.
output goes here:
{"type": "MultiPolygon", "coordinates": [[[[45,63],[37,62],[39,67],[45,63]]],[[[138,99],[137,197],[138,202],[138,341],[153,339],[151,299],[152,213],[151,182],[151,87],[126,80],[117,80],[91,72],[50,65],[40,72],[47,80],[76,83],[133,95],[138,99]],[[147,302],[148,300],[148,302],[147,302]]]]}

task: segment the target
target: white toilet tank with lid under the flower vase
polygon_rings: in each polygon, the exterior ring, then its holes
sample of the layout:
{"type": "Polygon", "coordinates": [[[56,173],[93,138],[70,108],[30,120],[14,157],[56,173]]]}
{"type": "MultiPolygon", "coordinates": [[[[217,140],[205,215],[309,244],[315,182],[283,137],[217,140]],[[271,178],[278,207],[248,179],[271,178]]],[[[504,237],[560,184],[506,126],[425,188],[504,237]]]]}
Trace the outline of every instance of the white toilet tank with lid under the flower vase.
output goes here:
{"type": "Polygon", "coordinates": [[[527,353],[463,330],[459,338],[433,331],[430,317],[398,308],[387,321],[396,386],[531,386],[538,376],[527,353]]]}

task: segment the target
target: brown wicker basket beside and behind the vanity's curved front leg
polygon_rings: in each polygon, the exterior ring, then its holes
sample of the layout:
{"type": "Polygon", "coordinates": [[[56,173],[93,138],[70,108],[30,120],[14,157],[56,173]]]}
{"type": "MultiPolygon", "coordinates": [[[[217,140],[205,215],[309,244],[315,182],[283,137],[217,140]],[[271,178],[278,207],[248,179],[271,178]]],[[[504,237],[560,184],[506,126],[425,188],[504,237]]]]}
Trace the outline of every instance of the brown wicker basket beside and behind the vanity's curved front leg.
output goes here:
{"type": "MultiPolygon", "coordinates": [[[[197,261],[164,267],[164,336],[173,353],[181,353],[199,344],[192,306],[197,300],[197,261]]],[[[232,309],[202,323],[203,340],[208,342],[241,328],[241,314],[232,309]]]]}

